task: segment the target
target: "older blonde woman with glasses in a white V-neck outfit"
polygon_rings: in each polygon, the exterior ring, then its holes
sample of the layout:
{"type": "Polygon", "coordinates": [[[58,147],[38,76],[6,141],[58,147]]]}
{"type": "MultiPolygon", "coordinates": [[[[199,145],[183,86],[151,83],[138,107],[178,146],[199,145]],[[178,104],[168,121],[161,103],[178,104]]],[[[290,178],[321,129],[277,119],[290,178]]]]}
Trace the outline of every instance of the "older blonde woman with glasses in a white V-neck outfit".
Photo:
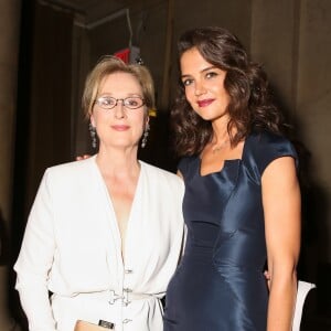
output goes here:
{"type": "Polygon", "coordinates": [[[31,331],[72,331],[77,320],[162,330],[160,298],[182,246],[183,183],[137,159],[153,105],[141,65],[105,57],[87,77],[83,107],[98,152],[45,171],[14,266],[31,331]]]}

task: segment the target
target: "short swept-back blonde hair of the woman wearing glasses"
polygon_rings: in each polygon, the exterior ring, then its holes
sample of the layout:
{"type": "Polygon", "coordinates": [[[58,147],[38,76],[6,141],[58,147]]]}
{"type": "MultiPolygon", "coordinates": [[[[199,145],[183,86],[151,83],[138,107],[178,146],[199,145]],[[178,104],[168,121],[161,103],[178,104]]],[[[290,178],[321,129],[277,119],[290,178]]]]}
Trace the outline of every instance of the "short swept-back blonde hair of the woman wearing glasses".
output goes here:
{"type": "Polygon", "coordinates": [[[149,109],[154,108],[154,84],[149,70],[140,64],[126,64],[116,56],[106,55],[95,65],[85,82],[82,108],[87,119],[93,113],[93,106],[102,82],[106,76],[118,72],[136,77],[142,89],[142,98],[145,99],[147,113],[149,109]]]}

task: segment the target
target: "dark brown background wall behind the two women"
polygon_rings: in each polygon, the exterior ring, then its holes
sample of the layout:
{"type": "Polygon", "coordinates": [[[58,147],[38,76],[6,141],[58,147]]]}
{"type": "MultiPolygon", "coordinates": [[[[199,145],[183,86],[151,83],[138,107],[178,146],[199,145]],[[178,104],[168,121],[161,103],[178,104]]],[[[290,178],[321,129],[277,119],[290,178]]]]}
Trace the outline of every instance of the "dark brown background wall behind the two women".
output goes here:
{"type": "MultiPolygon", "coordinates": [[[[328,0],[22,1],[12,261],[45,168],[93,152],[81,96],[96,61],[130,44],[139,47],[154,77],[158,106],[140,158],[174,171],[168,115],[177,87],[175,41],[189,28],[222,25],[263,63],[279,105],[296,126],[305,156],[299,277],[320,289],[307,323],[331,330],[330,21],[328,0]]],[[[10,281],[11,310],[24,324],[12,292],[13,275],[10,281]]]]}

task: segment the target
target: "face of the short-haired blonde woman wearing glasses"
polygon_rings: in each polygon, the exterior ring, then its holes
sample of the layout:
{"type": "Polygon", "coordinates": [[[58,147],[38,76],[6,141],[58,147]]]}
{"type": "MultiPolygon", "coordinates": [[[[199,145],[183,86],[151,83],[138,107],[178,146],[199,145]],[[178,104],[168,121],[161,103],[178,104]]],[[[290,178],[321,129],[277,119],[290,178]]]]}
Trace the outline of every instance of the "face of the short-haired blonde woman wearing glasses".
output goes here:
{"type": "Polygon", "coordinates": [[[142,89],[137,78],[128,73],[113,73],[103,79],[96,98],[99,97],[119,99],[111,109],[104,109],[98,104],[93,107],[90,122],[96,127],[100,147],[137,146],[148,120],[146,106],[128,109],[122,105],[125,98],[142,98],[142,89]]]}

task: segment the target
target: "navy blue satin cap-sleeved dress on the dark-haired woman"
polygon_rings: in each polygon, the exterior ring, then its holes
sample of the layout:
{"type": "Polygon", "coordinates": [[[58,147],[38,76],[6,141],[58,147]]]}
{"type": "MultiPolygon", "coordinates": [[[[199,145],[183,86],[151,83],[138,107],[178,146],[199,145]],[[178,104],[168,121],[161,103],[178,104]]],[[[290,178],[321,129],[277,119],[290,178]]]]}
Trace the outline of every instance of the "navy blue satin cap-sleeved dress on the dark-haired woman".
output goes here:
{"type": "Polygon", "coordinates": [[[179,166],[185,182],[188,237],[172,277],[164,331],[265,331],[268,289],[260,179],[276,158],[296,157],[292,145],[271,134],[250,135],[241,160],[200,174],[199,157],[179,166]]]}

